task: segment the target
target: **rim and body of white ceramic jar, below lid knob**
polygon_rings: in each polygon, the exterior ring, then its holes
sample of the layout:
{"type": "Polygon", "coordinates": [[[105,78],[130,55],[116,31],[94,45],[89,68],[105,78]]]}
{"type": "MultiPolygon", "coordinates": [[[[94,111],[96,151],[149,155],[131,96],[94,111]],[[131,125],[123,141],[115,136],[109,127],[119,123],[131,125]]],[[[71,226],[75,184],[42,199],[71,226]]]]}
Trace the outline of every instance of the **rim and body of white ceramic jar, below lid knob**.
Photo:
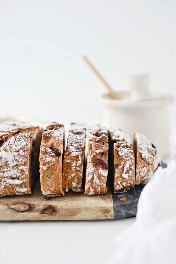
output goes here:
{"type": "Polygon", "coordinates": [[[120,99],[108,94],[100,97],[104,105],[103,125],[125,130],[131,137],[134,131],[145,134],[158,149],[161,157],[169,154],[169,124],[167,106],[172,95],[150,94],[150,99],[131,99],[130,92],[119,92],[120,99]]]}

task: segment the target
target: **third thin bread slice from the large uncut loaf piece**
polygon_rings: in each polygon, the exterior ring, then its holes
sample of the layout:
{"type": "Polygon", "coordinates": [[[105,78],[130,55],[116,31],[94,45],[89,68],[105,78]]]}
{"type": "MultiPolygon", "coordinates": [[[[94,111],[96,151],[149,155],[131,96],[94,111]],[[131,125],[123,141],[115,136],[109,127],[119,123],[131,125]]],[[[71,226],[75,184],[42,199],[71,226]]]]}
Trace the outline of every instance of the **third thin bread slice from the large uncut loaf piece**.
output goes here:
{"type": "Polygon", "coordinates": [[[106,194],[108,176],[108,133],[100,125],[90,126],[85,178],[87,195],[106,194]]]}

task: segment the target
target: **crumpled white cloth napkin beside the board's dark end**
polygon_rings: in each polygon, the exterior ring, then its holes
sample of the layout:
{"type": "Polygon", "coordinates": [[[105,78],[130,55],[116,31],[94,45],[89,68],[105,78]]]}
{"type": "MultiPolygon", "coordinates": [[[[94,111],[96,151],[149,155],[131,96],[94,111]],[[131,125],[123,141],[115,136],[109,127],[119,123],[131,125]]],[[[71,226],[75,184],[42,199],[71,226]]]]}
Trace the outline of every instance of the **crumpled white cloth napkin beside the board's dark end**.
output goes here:
{"type": "Polygon", "coordinates": [[[115,238],[110,263],[175,263],[175,172],[159,167],[141,192],[135,223],[115,238]]]}

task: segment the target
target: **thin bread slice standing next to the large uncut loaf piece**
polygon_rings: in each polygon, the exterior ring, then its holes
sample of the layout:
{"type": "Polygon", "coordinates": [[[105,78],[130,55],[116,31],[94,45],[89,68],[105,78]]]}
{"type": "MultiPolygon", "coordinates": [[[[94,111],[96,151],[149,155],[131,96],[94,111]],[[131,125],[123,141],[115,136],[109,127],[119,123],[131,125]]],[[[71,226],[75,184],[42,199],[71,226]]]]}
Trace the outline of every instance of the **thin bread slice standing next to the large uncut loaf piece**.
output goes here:
{"type": "Polygon", "coordinates": [[[47,197],[64,195],[62,189],[62,162],[64,126],[53,122],[42,134],[40,147],[40,183],[47,197]]]}

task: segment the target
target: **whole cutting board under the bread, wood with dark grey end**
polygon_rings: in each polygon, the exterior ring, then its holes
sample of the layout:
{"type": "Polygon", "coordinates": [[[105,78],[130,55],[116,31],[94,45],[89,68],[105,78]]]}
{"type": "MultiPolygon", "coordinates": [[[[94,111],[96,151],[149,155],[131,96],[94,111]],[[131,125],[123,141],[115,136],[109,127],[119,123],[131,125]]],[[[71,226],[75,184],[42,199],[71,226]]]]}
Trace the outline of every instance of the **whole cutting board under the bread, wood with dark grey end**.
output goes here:
{"type": "MultiPolygon", "coordinates": [[[[162,163],[162,167],[166,165],[162,163]]],[[[38,182],[32,195],[0,198],[0,220],[97,220],[131,217],[137,213],[137,203],[144,186],[135,185],[122,194],[113,194],[109,186],[107,195],[87,196],[68,192],[64,196],[45,199],[38,182]]]]}

